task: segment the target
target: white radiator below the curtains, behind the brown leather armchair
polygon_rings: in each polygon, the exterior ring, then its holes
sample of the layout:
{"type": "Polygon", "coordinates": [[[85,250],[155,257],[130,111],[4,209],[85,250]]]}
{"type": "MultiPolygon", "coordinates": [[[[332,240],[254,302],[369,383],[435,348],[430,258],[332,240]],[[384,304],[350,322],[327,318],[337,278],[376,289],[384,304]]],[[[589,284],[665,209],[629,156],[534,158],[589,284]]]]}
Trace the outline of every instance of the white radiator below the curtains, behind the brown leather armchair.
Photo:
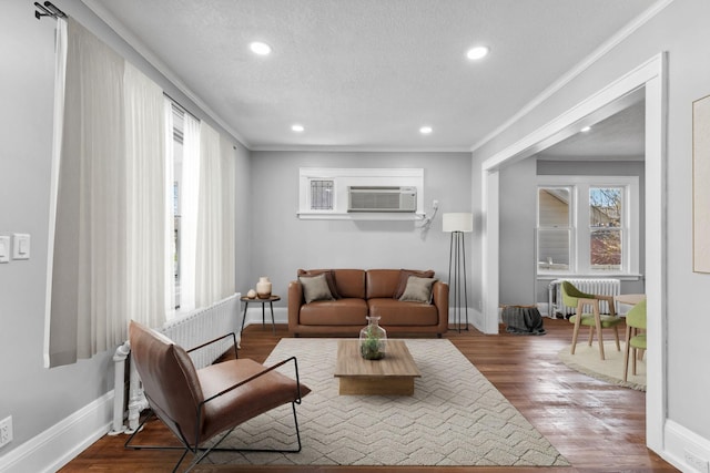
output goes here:
{"type": "MultiPolygon", "coordinates": [[[[185,349],[191,349],[205,343],[223,335],[240,329],[240,294],[236,292],[222,299],[210,307],[196,309],[190,313],[165,322],[160,329],[168,338],[185,349]]],[[[204,368],[212,364],[225,351],[233,347],[233,339],[226,338],[221,342],[195,350],[190,353],[195,368],[204,368]]],[[[113,402],[113,429],[110,434],[122,432],[132,433],[138,429],[140,413],[148,408],[148,401],[143,395],[143,388],[138,371],[131,366],[129,385],[129,426],[123,425],[124,413],[124,382],[125,362],[130,356],[130,345],[126,341],[119,347],[113,356],[115,362],[115,387],[113,402]]]]}

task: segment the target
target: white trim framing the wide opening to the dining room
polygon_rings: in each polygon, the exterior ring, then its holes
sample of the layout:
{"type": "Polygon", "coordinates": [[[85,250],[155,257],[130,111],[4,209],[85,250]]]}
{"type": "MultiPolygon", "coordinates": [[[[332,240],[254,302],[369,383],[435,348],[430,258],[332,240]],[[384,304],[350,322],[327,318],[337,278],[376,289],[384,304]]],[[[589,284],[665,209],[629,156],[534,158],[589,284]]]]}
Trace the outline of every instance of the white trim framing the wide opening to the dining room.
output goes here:
{"type": "MultiPolygon", "coordinates": [[[[601,109],[628,100],[639,90],[646,95],[646,292],[648,337],[657,350],[648,352],[646,441],[657,453],[663,451],[666,410],[666,117],[667,54],[659,53],[557,119],[496,153],[481,164],[481,294],[484,331],[498,331],[498,175],[504,165],[524,160],[572,134],[571,126],[591,120],[601,109]]],[[[596,120],[596,119],[595,119],[596,120]]]]}

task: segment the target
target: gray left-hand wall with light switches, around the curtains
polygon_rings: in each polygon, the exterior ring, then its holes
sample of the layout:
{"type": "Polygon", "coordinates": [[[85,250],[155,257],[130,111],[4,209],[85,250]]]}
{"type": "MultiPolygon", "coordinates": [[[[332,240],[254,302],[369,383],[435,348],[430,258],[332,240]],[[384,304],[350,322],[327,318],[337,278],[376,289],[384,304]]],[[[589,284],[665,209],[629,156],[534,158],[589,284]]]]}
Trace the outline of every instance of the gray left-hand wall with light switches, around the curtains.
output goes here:
{"type": "MultiPolygon", "coordinates": [[[[83,3],[67,0],[60,7],[91,25],[191,112],[206,116],[118,41],[83,3]]],[[[55,22],[37,21],[33,11],[31,2],[3,2],[0,16],[0,103],[4,111],[0,119],[0,235],[28,233],[32,238],[29,260],[0,264],[0,419],[12,415],[14,436],[0,449],[0,456],[113,389],[113,352],[68,367],[43,368],[55,22]]],[[[248,266],[250,155],[239,143],[235,160],[240,186],[236,237],[245,241],[237,247],[236,259],[240,266],[248,266]]],[[[237,274],[237,284],[246,284],[244,273],[237,274]]]]}

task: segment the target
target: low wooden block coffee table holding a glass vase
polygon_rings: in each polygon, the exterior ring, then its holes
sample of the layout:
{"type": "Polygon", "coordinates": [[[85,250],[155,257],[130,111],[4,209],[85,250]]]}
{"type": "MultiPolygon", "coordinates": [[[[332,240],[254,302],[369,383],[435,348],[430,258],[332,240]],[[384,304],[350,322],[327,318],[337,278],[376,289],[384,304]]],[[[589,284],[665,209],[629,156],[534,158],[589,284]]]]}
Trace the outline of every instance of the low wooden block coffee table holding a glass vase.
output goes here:
{"type": "Polygon", "coordinates": [[[341,395],[412,395],[422,373],[402,340],[387,340],[382,360],[361,357],[358,340],[338,340],[335,377],[341,395]]]}

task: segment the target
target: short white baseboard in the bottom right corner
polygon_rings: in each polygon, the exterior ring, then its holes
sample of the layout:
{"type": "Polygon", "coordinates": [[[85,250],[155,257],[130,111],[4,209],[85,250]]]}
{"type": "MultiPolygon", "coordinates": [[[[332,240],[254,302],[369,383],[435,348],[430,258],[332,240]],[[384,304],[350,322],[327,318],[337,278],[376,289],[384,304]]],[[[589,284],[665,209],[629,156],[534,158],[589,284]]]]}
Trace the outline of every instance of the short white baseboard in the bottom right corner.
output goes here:
{"type": "Polygon", "coordinates": [[[710,440],[671,420],[666,421],[666,445],[661,456],[680,471],[708,473],[710,470],[710,440]]]}

